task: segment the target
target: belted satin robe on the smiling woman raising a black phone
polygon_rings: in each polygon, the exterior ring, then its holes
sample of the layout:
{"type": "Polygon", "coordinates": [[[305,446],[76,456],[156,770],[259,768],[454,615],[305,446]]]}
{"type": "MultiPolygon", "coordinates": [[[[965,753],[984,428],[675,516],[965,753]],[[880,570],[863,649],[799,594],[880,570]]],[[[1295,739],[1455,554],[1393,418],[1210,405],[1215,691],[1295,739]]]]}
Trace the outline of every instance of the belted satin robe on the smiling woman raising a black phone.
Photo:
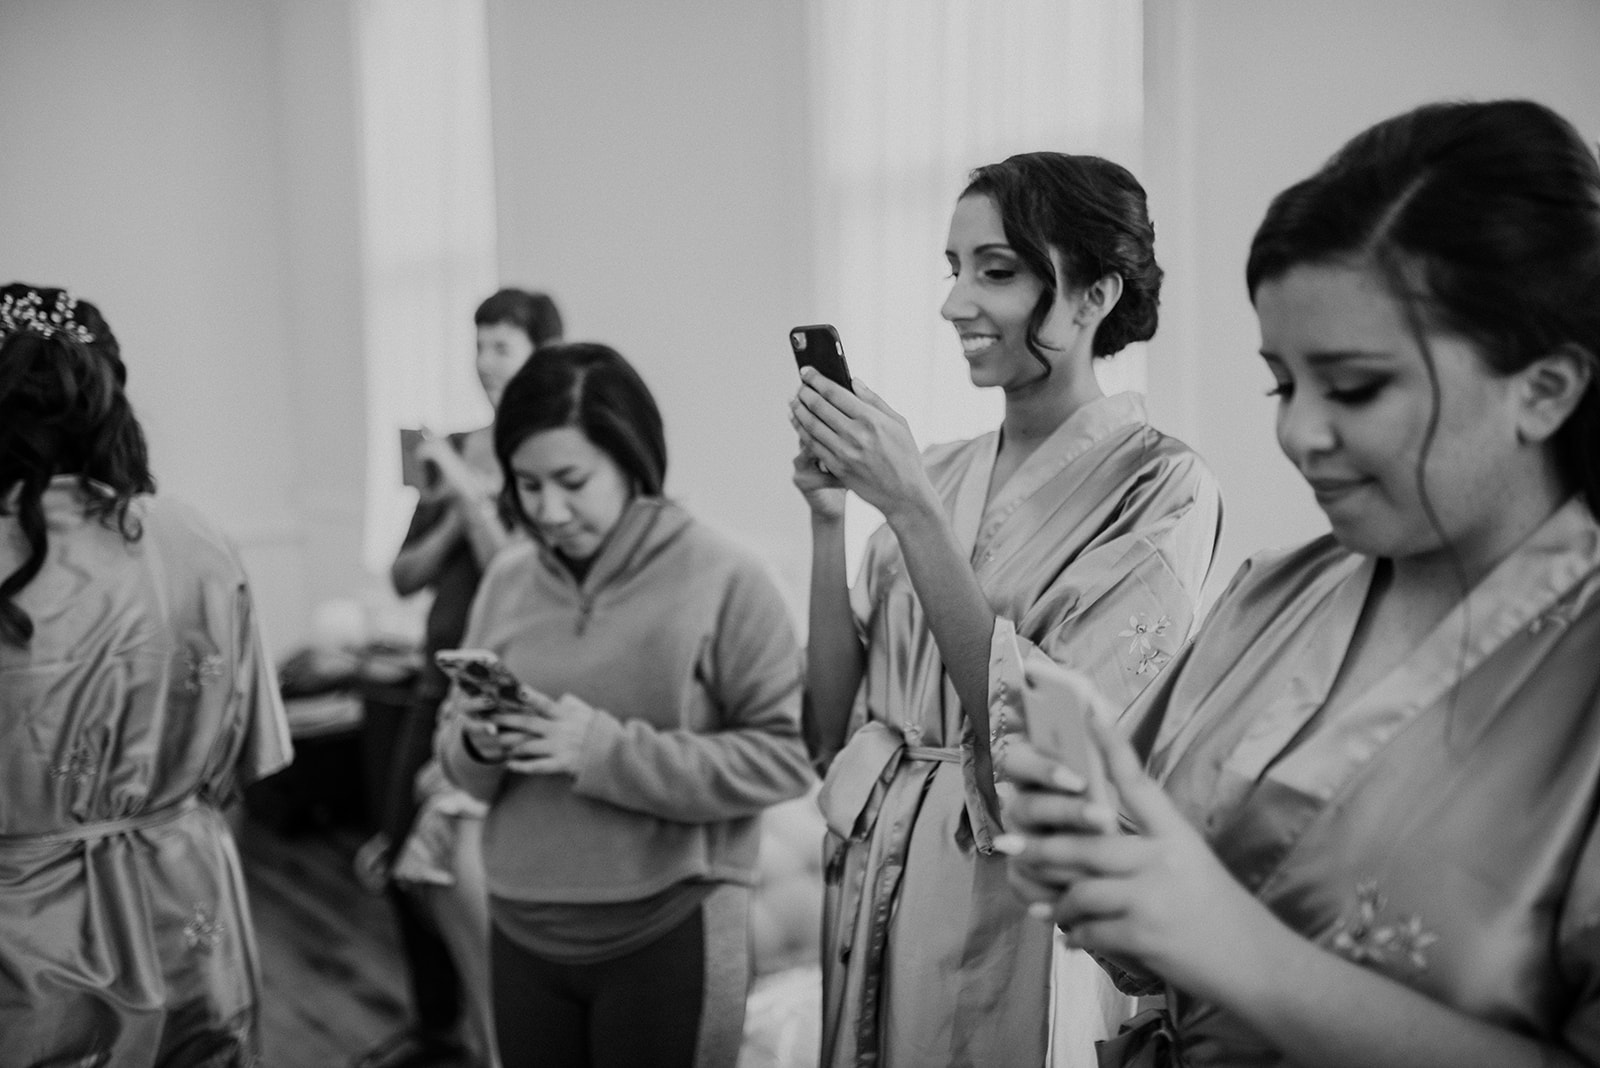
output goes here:
{"type": "MultiPolygon", "coordinates": [[[[1216,483],[1152,430],[1138,395],[1074,412],[986,507],[998,433],[925,452],[997,614],[990,745],[1021,729],[1022,662],[1045,656],[1134,697],[1187,636],[1221,521],[1216,483]]],[[[888,528],[851,592],[867,649],[858,727],[832,759],[822,1065],[1043,1065],[1051,929],[992,852],[1003,823],[888,528]]]]}

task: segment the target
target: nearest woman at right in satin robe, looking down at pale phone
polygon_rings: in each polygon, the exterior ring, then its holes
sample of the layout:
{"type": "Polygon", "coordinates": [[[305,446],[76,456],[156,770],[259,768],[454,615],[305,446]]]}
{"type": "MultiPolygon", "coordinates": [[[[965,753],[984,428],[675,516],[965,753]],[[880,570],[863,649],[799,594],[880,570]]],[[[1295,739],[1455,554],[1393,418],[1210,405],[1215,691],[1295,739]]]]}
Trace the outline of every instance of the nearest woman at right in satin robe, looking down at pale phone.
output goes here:
{"type": "Polygon", "coordinates": [[[1246,280],[1333,532],[1128,711],[1154,782],[1098,734],[1134,833],[1013,753],[1019,886],[1166,986],[1102,1063],[1600,1063],[1600,166],[1533,102],[1421,107],[1246,280]]]}

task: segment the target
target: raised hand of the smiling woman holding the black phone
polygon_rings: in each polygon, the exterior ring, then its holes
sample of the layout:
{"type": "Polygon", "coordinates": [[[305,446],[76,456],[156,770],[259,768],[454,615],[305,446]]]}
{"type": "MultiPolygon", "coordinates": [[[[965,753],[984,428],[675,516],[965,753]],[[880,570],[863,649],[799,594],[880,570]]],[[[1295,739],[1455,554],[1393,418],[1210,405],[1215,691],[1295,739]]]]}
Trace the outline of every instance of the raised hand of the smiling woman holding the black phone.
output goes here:
{"type": "Polygon", "coordinates": [[[800,444],[862,500],[891,516],[933,492],[910,427],[859,379],[856,392],[811,368],[789,401],[800,444]]]}

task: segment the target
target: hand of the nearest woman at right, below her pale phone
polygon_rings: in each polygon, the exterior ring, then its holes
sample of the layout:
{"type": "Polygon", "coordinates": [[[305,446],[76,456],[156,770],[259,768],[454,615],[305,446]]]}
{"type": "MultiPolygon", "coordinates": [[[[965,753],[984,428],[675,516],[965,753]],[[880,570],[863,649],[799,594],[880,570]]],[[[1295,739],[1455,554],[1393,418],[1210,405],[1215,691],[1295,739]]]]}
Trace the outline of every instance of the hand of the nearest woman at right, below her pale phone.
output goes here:
{"type": "Polygon", "coordinates": [[[1053,892],[1050,915],[1069,943],[1136,961],[1202,996],[1214,991],[1248,959],[1261,926],[1275,921],[1144,774],[1133,747],[1098,719],[1091,727],[1138,830],[1107,833],[1107,814],[1050,782],[1048,767],[1030,775],[1029,766],[1008,763],[1026,779],[1013,807],[1021,833],[995,844],[1011,854],[1027,897],[1053,892]]]}

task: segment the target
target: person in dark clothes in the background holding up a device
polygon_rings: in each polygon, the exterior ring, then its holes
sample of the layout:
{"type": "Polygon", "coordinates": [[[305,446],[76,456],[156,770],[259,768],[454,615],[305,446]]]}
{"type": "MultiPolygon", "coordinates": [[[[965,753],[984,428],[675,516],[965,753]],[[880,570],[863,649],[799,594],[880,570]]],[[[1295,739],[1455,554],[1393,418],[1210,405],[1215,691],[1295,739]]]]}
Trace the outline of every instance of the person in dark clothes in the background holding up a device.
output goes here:
{"type": "MultiPolygon", "coordinates": [[[[560,341],[562,313],[542,293],[504,288],[472,315],[477,373],[490,408],[542,345],[560,341]]],[[[398,921],[416,1020],[355,1058],[352,1068],[410,1068],[459,1052],[467,1015],[472,1044],[488,1047],[488,915],[478,857],[480,806],[430,764],[438,707],[450,689],[434,654],[461,644],[483,568],[512,531],[499,515],[493,427],[424,438],[418,454],[434,472],[389,569],[400,596],[430,590],[422,671],[389,761],[382,828],[363,862],[390,865],[389,900],[398,921]],[[421,796],[419,796],[421,795],[421,796]]],[[[493,1068],[493,1054],[486,1055],[493,1068]]]]}

